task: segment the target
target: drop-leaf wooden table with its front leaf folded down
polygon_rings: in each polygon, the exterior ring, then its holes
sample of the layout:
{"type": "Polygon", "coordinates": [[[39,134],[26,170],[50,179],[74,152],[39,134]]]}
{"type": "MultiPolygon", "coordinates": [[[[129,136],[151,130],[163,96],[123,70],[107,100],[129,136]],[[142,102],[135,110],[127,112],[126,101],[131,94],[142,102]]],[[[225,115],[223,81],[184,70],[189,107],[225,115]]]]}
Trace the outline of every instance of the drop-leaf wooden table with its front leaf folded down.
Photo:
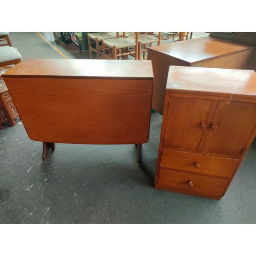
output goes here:
{"type": "Polygon", "coordinates": [[[55,142],[148,141],[150,60],[29,59],[3,77],[29,138],[45,142],[43,159],[55,142]]]}

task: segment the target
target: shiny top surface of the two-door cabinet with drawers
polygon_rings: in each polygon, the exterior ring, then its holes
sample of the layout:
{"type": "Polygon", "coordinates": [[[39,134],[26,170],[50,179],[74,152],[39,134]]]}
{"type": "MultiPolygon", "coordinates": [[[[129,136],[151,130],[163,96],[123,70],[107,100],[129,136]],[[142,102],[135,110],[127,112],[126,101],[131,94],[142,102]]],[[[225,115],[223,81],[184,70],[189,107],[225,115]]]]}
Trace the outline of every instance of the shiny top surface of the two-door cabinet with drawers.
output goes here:
{"type": "Polygon", "coordinates": [[[256,97],[254,70],[170,66],[166,90],[256,97]]]}

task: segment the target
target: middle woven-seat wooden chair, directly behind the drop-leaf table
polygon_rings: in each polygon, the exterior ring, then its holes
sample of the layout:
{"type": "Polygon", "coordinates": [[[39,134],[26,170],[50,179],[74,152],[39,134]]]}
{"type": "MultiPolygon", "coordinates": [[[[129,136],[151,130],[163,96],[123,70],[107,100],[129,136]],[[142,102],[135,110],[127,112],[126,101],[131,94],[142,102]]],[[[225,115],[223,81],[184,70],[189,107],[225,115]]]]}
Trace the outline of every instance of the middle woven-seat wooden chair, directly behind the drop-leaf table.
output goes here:
{"type": "Polygon", "coordinates": [[[126,33],[122,32],[122,36],[119,36],[119,32],[116,33],[116,38],[102,40],[103,58],[105,59],[127,59],[129,55],[138,59],[138,33],[135,33],[134,38],[127,38],[126,33]],[[105,48],[110,49],[110,53],[106,54],[105,48]]]}

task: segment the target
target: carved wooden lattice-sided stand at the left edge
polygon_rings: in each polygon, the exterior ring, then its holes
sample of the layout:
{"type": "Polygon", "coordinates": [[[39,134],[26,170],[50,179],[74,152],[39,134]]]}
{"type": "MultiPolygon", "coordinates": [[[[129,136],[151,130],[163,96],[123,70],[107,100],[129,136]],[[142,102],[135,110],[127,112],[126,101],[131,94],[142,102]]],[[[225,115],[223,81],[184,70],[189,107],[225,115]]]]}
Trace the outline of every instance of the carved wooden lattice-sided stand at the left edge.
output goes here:
{"type": "MultiPolygon", "coordinates": [[[[1,69],[0,69],[1,75],[1,69]]],[[[0,130],[3,129],[1,123],[8,122],[11,126],[16,124],[15,118],[18,112],[8,92],[4,79],[0,76],[0,130]]]]}

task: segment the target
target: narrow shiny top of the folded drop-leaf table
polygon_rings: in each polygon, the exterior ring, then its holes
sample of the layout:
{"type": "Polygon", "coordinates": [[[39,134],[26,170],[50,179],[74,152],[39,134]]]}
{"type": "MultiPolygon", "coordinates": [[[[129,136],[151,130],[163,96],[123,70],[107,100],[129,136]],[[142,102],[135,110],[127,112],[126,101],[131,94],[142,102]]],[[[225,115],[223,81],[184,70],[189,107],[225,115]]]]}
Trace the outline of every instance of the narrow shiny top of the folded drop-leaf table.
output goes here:
{"type": "Polygon", "coordinates": [[[153,79],[151,60],[26,59],[3,77],[153,79]]]}

